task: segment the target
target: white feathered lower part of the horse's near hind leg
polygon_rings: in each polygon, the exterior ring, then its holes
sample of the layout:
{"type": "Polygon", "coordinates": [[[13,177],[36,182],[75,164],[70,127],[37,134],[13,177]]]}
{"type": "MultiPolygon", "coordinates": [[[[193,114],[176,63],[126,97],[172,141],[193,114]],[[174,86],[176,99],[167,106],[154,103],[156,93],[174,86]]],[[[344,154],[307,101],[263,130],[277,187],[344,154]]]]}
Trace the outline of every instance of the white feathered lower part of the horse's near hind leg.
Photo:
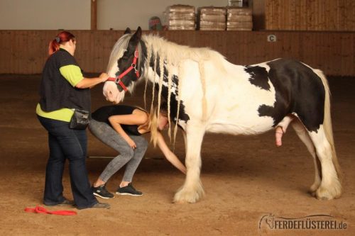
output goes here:
{"type": "Polygon", "coordinates": [[[308,132],[308,134],[313,145],[315,145],[316,154],[322,167],[322,180],[319,188],[315,191],[315,195],[322,200],[339,198],[342,195],[342,185],[333,162],[336,157],[333,157],[332,146],[327,140],[322,125],[317,133],[308,132]]]}

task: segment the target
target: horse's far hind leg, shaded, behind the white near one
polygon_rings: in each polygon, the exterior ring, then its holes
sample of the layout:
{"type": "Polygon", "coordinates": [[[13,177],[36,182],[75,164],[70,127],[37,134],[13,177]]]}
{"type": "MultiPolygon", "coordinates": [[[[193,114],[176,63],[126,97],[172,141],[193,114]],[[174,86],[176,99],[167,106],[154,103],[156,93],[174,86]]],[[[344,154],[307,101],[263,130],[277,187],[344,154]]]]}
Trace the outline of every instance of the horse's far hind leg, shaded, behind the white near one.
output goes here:
{"type": "Polygon", "coordinates": [[[298,118],[295,118],[291,125],[313,157],[313,162],[315,163],[315,182],[312,184],[312,186],[310,186],[310,193],[312,196],[315,196],[315,191],[318,189],[322,181],[322,170],[320,167],[320,160],[318,159],[315,151],[315,145],[313,145],[313,142],[310,139],[310,135],[308,135],[305,126],[300,122],[300,120],[298,120],[298,118]]]}

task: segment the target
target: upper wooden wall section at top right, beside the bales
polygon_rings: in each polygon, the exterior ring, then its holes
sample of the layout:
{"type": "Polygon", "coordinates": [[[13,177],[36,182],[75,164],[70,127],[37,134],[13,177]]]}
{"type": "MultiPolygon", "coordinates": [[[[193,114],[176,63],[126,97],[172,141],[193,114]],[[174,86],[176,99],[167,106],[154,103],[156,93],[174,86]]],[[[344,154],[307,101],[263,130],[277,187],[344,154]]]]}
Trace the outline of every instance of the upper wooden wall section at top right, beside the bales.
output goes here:
{"type": "Polygon", "coordinates": [[[253,0],[256,30],[355,31],[354,0],[253,0]]]}

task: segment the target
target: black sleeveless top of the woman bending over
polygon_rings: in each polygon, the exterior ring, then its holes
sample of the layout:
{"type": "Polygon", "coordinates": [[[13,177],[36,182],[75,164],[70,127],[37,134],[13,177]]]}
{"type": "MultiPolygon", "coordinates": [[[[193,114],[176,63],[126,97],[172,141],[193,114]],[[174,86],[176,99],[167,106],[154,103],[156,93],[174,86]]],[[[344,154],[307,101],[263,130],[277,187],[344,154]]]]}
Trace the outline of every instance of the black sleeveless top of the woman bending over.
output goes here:
{"type": "MultiPolygon", "coordinates": [[[[135,109],[140,108],[126,105],[102,106],[92,113],[92,119],[107,123],[112,127],[109,122],[110,116],[130,115],[135,109]]],[[[138,132],[138,125],[121,125],[121,127],[129,135],[141,135],[141,133],[138,132]]]]}

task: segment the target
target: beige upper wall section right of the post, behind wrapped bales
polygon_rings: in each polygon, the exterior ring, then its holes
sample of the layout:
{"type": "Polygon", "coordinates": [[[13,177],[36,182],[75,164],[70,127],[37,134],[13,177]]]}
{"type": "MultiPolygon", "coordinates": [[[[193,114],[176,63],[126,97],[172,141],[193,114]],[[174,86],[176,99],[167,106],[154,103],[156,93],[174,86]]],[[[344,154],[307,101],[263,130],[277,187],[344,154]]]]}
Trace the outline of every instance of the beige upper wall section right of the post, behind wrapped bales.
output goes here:
{"type": "Polygon", "coordinates": [[[163,11],[167,6],[186,4],[200,6],[226,6],[228,0],[97,0],[97,28],[100,30],[136,29],[141,26],[148,30],[151,16],[158,16],[163,21],[163,11]]]}

